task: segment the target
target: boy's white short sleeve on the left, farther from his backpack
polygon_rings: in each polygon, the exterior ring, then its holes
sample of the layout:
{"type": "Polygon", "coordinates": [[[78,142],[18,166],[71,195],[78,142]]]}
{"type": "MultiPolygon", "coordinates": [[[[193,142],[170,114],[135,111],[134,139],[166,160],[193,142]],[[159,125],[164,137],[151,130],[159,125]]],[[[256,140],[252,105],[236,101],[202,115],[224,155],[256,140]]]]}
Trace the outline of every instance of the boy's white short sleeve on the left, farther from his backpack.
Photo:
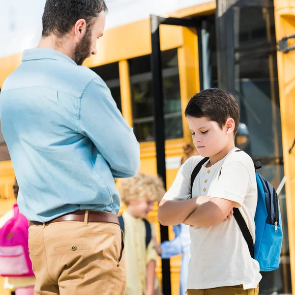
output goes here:
{"type": "MultiPolygon", "coordinates": [[[[202,157],[197,157],[200,158],[200,160],[202,159],[202,157]]],[[[194,163],[198,163],[195,158],[196,157],[190,157],[181,165],[173,184],[163,197],[164,200],[181,201],[191,197],[190,178],[195,168],[194,163]]]]}

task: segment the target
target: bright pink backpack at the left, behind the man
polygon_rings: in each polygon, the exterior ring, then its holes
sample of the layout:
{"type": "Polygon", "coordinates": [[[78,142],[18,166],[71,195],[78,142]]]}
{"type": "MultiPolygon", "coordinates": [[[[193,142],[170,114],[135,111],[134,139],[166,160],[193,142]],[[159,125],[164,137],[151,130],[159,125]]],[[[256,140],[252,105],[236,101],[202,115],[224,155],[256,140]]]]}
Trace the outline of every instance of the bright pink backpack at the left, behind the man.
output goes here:
{"type": "Polygon", "coordinates": [[[17,204],[13,210],[14,216],[0,229],[0,276],[33,276],[29,259],[29,222],[17,204]]]}

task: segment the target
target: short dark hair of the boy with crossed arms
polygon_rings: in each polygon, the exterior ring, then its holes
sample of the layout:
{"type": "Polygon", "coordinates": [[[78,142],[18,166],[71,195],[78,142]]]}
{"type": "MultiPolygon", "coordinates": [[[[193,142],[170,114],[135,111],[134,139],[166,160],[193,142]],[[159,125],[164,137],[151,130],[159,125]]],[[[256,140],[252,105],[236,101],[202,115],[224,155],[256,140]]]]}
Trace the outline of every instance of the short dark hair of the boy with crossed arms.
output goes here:
{"type": "Polygon", "coordinates": [[[228,118],[235,121],[234,134],[236,135],[239,124],[239,106],[233,94],[218,88],[210,88],[196,93],[188,102],[185,117],[206,117],[224,126],[228,118]]]}

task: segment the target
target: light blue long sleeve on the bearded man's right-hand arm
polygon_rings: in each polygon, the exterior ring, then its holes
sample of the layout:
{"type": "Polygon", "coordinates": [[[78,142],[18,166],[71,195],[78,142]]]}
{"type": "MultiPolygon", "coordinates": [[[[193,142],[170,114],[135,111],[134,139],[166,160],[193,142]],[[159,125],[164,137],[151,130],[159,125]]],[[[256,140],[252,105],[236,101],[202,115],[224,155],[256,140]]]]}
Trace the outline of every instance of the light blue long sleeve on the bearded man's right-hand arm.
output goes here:
{"type": "Polygon", "coordinates": [[[113,176],[134,176],[140,166],[139,143],[99,77],[83,92],[78,117],[78,132],[92,141],[109,163],[113,176]]]}

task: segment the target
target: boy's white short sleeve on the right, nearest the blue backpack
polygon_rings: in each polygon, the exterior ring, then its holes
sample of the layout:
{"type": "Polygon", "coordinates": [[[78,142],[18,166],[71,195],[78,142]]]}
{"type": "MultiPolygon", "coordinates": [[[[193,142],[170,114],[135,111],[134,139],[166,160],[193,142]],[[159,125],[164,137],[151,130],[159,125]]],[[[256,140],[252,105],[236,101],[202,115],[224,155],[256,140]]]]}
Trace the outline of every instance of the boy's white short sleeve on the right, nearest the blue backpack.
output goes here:
{"type": "Polygon", "coordinates": [[[244,198],[252,187],[247,167],[242,162],[224,163],[211,198],[222,198],[243,205],[244,198]]]}

